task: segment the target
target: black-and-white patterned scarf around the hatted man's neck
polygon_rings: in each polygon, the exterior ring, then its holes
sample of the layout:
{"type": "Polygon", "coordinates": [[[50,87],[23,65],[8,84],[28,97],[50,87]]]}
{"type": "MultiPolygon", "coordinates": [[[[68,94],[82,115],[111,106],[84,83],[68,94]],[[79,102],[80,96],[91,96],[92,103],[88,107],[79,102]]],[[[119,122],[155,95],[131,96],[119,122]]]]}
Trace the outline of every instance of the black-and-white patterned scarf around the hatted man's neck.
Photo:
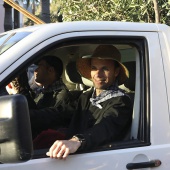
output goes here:
{"type": "Polygon", "coordinates": [[[113,97],[118,97],[118,96],[124,96],[125,93],[123,90],[118,88],[118,84],[115,83],[114,85],[110,86],[106,90],[102,91],[98,96],[95,95],[95,89],[93,91],[92,97],[90,98],[90,102],[92,103],[93,106],[98,107],[99,109],[102,109],[102,106],[100,103],[111,99],[113,97]]]}

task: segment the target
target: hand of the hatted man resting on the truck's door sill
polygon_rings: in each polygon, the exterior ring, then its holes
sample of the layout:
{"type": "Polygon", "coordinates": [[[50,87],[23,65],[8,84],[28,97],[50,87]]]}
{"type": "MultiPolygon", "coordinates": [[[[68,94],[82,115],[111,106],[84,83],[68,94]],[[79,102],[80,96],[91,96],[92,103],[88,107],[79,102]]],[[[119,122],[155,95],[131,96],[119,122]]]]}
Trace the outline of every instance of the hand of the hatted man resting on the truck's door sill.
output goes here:
{"type": "Polygon", "coordinates": [[[74,153],[80,147],[81,142],[74,138],[70,140],[57,140],[46,153],[50,158],[66,159],[70,153],[74,153]]]}

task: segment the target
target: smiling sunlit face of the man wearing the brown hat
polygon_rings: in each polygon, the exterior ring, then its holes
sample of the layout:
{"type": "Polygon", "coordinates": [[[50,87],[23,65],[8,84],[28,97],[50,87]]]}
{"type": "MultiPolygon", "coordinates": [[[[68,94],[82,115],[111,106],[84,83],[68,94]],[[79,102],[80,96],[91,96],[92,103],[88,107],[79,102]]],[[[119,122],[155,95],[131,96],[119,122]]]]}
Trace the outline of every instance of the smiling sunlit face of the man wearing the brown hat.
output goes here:
{"type": "Polygon", "coordinates": [[[96,89],[107,89],[114,83],[118,74],[119,68],[115,68],[113,60],[91,60],[91,78],[96,89]]]}

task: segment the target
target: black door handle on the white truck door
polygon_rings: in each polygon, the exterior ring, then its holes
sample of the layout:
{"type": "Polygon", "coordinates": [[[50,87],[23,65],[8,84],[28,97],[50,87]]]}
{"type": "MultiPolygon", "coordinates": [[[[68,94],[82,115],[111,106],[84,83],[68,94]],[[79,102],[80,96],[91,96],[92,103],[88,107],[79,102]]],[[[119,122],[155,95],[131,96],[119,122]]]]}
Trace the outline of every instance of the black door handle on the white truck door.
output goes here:
{"type": "Polygon", "coordinates": [[[160,160],[152,160],[149,162],[140,162],[140,163],[128,163],[126,165],[127,169],[140,169],[140,168],[152,168],[158,167],[161,165],[160,160]]]}

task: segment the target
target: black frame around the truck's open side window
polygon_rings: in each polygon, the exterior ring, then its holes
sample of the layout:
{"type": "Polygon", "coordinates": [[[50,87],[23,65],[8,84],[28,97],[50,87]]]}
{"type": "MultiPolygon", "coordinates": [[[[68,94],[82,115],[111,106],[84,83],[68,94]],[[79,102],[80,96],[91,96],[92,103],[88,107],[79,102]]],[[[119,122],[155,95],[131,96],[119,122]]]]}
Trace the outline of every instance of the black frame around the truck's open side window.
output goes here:
{"type": "MultiPolygon", "coordinates": [[[[75,44],[86,44],[86,43],[94,43],[94,44],[133,44],[136,46],[139,52],[139,61],[140,61],[140,82],[141,82],[141,91],[140,91],[140,123],[139,123],[139,133],[138,138],[130,141],[122,141],[122,142],[113,142],[109,144],[109,146],[103,146],[97,150],[93,150],[90,152],[98,152],[98,151],[106,151],[106,150],[115,150],[115,149],[123,149],[123,148],[133,148],[133,147],[141,147],[150,145],[150,119],[149,119],[149,87],[147,82],[149,82],[149,69],[148,69],[148,49],[147,49],[147,40],[143,36],[77,36],[74,38],[66,38],[56,42],[52,42],[48,44],[46,47],[35,53],[32,57],[29,58],[28,61],[24,62],[18,70],[22,69],[25,66],[30,65],[30,63],[36,58],[39,60],[41,54],[46,53],[48,50],[52,50],[54,48],[61,48],[63,46],[75,45],[75,44]],[[145,69],[143,69],[145,68],[145,69]]],[[[17,71],[18,71],[17,70],[17,71]]],[[[16,72],[17,72],[16,71],[16,72]]],[[[16,74],[16,73],[15,73],[16,74]]],[[[14,74],[14,75],[15,75],[14,74]]],[[[12,76],[12,78],[14,77],[12,76]]],[[[47,149],[37,150],[34,153],[33,158],[42,158],[45,157],[44,153],[47,149]]],[[[84,152],[82,152],[84,153],[84,152]]]]}

